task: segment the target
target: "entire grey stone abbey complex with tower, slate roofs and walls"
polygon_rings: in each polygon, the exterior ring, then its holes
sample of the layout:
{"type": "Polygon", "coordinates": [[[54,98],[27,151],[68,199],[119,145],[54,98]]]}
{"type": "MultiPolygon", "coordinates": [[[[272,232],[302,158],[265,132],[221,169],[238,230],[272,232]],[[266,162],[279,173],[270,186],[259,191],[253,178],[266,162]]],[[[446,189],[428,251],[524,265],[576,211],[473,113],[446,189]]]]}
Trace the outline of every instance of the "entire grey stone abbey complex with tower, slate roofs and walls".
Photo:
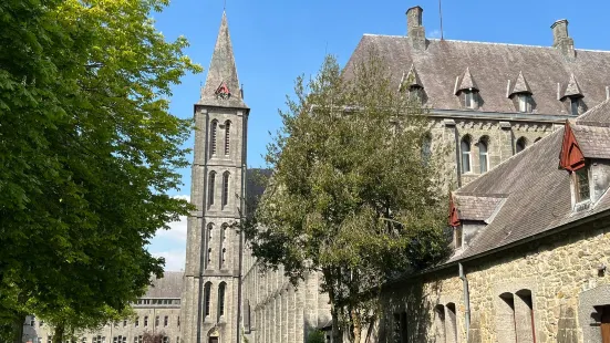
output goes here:
{"type": "MultiPolygon", "coordinates": [[[[396,90],[430,108],[430,144],[451,147],[458,186],[448,205],[454,254],[385,285],[386,313],[363,334],[369,342],[610,340],[610,52],[577,49],[567,20],[547,30],[548,46],[428,39],[414,7],[406,35],[364,34],[355,46],[347,71],[375,49],[396,90]]],[[[229,229],[255,190],[248,116],[223,14],[194,105],[197,210],[185,272],[135,306],[131,330],[106,328],[83,343],[139,343],[145,316],[151,329],[168,316],[165,343],[301,343],[328,330],[321,276],[294,289],[281,268],[261,274],[229,229]]],[[[46,339],[37,329],[24,342],[46,339]]]]}

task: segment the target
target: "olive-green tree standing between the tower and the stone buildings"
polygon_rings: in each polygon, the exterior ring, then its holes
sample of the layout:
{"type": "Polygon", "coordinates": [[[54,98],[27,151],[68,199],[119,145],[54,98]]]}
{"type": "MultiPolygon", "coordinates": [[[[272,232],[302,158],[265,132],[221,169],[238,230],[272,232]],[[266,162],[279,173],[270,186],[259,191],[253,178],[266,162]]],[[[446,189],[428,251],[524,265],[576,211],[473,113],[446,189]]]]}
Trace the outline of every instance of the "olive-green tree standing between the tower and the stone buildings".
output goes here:
{"type": "Polygon", "coordinates": [[[384,282],[446,253],[444,148],[427,153],[427,114],[391,80],[374,51],[353,71],[329,56],[297,79],[266,156],[272,178],[241,226],[262,266],[293,283],[322,273],[334,342],[360,342],[384,282]]]}

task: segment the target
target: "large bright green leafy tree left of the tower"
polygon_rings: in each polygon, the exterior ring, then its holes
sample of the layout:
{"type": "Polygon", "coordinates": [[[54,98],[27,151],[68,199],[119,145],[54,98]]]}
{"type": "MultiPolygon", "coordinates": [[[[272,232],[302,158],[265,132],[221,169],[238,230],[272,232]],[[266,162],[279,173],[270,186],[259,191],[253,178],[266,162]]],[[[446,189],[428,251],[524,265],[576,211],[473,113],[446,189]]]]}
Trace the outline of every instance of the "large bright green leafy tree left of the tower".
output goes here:
{"type": "Polygon", "coordinates": [[[0,1],[0,326],[75,330],[122,313],[164,260],[145,249],[188,204],[190,121],[170,87],[199,72],[149,19],[167,0],[0,1]]]}

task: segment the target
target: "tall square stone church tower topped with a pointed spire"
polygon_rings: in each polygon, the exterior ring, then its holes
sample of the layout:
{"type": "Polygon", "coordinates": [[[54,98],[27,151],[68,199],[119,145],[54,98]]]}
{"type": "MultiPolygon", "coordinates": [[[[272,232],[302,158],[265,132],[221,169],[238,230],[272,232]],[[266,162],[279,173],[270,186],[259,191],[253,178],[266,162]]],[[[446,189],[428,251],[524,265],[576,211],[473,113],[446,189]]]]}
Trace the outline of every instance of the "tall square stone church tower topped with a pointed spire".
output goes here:
{"type": "Polygon", "coordinates": [[[195,104],[195,158],[188,217],[183,340],[239,342],[242,237],[230,228],[240,219],[246,177],[249,108],[237,77],[227,17],[195,104]]]}

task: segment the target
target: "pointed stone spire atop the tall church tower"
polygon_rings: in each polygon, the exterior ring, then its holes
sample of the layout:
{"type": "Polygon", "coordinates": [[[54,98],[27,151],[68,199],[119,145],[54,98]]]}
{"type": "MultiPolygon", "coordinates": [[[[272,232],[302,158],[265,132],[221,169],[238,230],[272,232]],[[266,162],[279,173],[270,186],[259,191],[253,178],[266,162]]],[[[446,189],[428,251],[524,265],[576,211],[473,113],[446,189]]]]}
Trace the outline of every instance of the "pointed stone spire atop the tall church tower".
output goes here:
{"type": "Polygon", "coordinates": [[[209,63],[206,84],[201,89],[201,97],[198,104],[221,107],[247,107],[241,98],[226,12],[223,12],[220,30],[218,30],[218,38],[216,39],[216,46],[214,48],[211,62],[209,63]]]}

